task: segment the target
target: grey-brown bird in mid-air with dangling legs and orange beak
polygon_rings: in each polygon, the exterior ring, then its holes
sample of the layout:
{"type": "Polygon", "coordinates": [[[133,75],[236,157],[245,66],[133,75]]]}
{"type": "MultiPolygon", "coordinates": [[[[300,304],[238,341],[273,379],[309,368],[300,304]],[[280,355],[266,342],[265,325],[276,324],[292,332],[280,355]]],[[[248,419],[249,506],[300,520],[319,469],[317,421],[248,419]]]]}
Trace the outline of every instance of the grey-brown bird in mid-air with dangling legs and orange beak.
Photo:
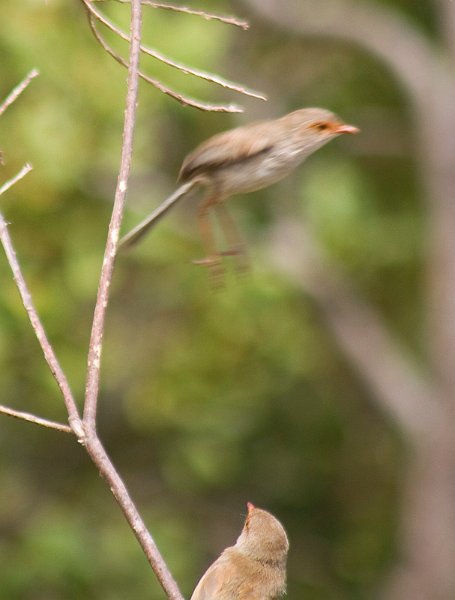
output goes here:
{"type": "Polygon", "coordinates": [[[302,108],[284,117],[260,121],[225,131],[200,144],[183,161],[180,187],[144,221],[120,240],[120,247],[138,242],[167,211],[196,185],[208,192],[198,208],[198,220],[206,257],[194,261],[217,266],[221,257],[239,254],[243,242],[223,201],[233,194],[253,192],[283,179],[307,156],[342,133],[357,133],[323,108],[302,108]],[[217,251],[209,212],[214,208],[228,242],[217,251]]]}

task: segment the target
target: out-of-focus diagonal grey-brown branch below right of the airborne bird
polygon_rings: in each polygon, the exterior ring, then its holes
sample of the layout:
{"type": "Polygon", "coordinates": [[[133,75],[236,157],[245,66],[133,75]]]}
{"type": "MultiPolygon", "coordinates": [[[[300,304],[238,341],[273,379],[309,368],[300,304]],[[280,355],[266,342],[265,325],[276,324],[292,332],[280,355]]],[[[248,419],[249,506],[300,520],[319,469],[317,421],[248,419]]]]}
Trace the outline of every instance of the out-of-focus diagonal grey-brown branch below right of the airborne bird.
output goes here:
{"type": "Polygon", "coordinates": [[[418,372],[377,312],[329,263],[309,231],[302,224],[281,223],[273,239],[273,261],[316,302],[380,408],[390,413],[408,435],[421,435],[441,422],[439,391],[418,372]]]}

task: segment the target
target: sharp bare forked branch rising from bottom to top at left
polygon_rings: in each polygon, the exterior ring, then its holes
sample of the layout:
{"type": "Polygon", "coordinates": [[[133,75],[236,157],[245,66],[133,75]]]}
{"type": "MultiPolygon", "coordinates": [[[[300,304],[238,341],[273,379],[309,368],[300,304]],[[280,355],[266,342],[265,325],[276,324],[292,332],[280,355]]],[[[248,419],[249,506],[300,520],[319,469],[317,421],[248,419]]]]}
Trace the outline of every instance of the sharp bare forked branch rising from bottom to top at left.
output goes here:
{"type": "MultiPolygon", "coordinates": [[[[157,579],[170,600],[183,600],[177,583],[173,579],[163,557],[161,556],[154,539],[150,535],[142,517],[139,514],[129,492],[122,481],[120,475],[115,469],[112,461],[107,455],[96,431],[97,404],[99,395],[101,350],[103,342],[103,331],[105,323],[106,309],[109,301],[109,291],[112,281],[112,274],[116,256],[116,249],[119,238],[119,231],[123,210],[125,206],[126,191],[128,188],[128,179],[131,170],[131,157],[133,150],[133,133],[136,117],[136,106],[138,96],[139,80],[139,56],[141,52],[141,1],[132,0],[131,2],[131,43],[130,56],[128,61],[128,91],[126,99],[122,155],[120,161],[117,189],[115,193],[114,208],[109,225],[109,233],[106,242],[104,260],[101,269],[98,295],[95,305],[93,318],[92,334],[90,338],[88,367],[87,367],[87,385],[84,407],[84,419],[81,420],[79,412],[72,396],[68,381],[63,370],[60,367],[55,352],[46,336],[44,327],[32,302],[31,294],[26,285],[21,272],[16,253],[13,248],[11,238],[8,233],[6,220],[0,213],[0,241],[3,244],[8,263],[13,272],[14,281],[19,290],[22,302],[28,313],[35,335],[41,345],[45,359],[49,368],[56,379],[69,415],[70,427],[49,421],[30,413],[18,411],[6,406],[0,405],[0,412],[18,419],[26,420],[34,424],[56,429],[63,432],[73,431],[79,442],[81,442],[94,464],[97,466],[101,476],[107,482],[109,489],[116,498],[121,510],[123,511],[131,529],[138,539],[147,559],[152,566],[157,579]]],[[[0,110],[3,112],[7,106],[12,104],[20,93],[27,87],[29,81],[34,76],[28,76],[17,86],[8,96],[0,110]]],[[[6,192],[20,179],[22,179],[31,170],[30,165],[25,165],[23,169],[0,188],[0,194],[6,192]]]]}

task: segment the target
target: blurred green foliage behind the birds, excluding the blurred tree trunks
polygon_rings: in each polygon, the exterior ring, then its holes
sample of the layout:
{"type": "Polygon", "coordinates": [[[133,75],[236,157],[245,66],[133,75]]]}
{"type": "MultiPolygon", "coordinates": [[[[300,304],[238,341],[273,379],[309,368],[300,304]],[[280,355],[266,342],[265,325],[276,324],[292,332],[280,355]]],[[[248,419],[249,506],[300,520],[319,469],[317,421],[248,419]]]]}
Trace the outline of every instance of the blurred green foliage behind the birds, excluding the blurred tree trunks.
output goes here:
{"type": "MultiPolygon", "coordinates": [[[[431,2],[388,3],[436,35],[431,2]]],[[[241,3],[198,7],[232,13],[241,3]]],[[[102,8],[127,27],[126,6],[102,8]]],[[[144,59],[145,70],[185,93],[240,102],[247,112],[201,113],[141,84],[126,225],[173,188],[187,151],[237,123],[316,104],[362,126],[366,141],[333,143],[288,181],[231,201],[253,269],[241,279],[229,272],[218,293],[191,264],[201,252],[194,200],[119,258],[103,356],[102,438],[186,595],[235,540],[251,500],[289,532],[289,598],[370,598],[395,558],[400,436],[315,306],[268,264],[263,240],[280,202],[307,219],[419,352],[422,214],[406,98],[359,48],[292,38],[256,22],[243,32],[146,12],[150,46],[262,89],[270,102],[243,101],[144,59]]],[[[82,399],[126,72],[96,44],[77,2],[3,2],[0,21],[1,95],[31,68],[41,72],[0,120],[2,181],[25,161],[34,165],[2,197],[2,210],[82,399]]],[[[64,420],[5,260],[0,276],[0,402],[64,420]]],[[[162,598],[83,450],[69,436],[0,418],[2,598],[162,598]]]]}

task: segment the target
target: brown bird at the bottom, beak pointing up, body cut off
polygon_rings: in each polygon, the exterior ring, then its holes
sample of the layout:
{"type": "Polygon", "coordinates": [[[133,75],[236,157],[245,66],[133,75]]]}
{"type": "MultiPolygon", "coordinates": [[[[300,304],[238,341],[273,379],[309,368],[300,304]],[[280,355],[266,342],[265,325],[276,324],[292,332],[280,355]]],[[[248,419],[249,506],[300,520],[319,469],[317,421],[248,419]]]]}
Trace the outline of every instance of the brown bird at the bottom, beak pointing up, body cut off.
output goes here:
{"type": "Polygon", "coordinates": [[[285,593],[286,532],[270,513],[247,506],[237,542],[207,569],[191,600],[275,600],[285,593]]]}

